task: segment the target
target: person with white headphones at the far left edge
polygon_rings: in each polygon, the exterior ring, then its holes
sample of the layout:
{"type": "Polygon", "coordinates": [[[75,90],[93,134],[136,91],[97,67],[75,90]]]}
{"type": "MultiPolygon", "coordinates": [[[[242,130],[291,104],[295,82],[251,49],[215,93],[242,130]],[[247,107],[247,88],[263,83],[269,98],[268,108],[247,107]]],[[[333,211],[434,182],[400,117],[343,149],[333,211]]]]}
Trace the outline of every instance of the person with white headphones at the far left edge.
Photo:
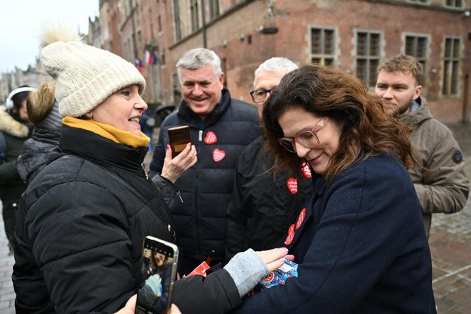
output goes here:
{"type": "Polygon", "coordinates": [[[16,214],[21,193],[26,188],[16,170],[16,158],[23,149],[23,142],[30,136],[26,98],[33,89],[29,86],[16,88],[6,99],[6,110],[0,107],[0,199],[10,252],[16,245],[16,214]]]}

